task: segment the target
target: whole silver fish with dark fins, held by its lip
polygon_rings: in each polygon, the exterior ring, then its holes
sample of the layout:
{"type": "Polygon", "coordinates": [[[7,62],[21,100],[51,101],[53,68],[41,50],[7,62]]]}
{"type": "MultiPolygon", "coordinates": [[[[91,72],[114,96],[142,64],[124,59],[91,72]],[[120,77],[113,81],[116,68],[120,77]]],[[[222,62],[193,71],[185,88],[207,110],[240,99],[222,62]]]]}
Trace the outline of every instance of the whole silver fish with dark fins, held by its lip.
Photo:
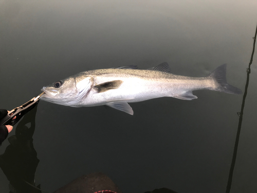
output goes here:
{"type": "Polygon", "coordinates": [[[160,97],[193,100],[197,96],[192,91],[204,89],[242,94],[227,83],[226,67],[223,64],[206,77],[174,75],[167,62],[149,69],[135,65],[95,69],[44,86],[40,99],[70,107],[106,105],[133,115],[131,102],[160,97]]]}

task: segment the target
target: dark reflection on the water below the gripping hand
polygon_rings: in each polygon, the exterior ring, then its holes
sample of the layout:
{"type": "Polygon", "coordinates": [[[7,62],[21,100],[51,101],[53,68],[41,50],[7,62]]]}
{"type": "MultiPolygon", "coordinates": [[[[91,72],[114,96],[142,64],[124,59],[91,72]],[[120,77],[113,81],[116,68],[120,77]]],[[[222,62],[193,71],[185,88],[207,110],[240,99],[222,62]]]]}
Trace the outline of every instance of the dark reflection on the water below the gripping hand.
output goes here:
{"type": "Polygon", "coordinates": [[[0,155],[0,167],[10,182],[11,192],[41,192],[29,185],[35,186],[35,171],[39,164],[32,138],[37,107],[25,114],[16,127],[15,135],[8,138],[10,145],[0,155]]]}

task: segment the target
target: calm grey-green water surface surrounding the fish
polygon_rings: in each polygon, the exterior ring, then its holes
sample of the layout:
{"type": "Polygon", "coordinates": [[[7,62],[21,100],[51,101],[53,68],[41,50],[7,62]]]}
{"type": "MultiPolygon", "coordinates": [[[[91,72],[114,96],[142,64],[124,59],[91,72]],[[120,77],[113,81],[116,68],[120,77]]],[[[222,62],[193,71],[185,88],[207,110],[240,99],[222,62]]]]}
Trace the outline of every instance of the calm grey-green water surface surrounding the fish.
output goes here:
{"type": "MultiPolygon", "coordinates": [[[[162,62],[196,77],[227,63],[228,82],[244,90],[256,10],[256,1],[0,1],[0,108],[79,72],[162,62]]],[[[257,191],[256,57],[231,192],[257,191]]],[[[52,192],[101,171],[124,193],[225,192],[243,95],[194,95],[132,103],[134,116],[40,101],[35,184],[52,192]]],[[[0,192],[8,184],[1,170],[0,192]]]]}

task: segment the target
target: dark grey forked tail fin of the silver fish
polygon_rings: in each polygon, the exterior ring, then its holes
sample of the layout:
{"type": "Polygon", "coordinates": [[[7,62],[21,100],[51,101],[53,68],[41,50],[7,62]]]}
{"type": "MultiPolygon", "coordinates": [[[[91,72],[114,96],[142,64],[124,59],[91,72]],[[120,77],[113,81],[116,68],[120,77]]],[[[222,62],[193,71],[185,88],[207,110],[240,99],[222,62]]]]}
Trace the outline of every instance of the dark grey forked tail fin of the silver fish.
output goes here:
{"type": "Polygon", "coordinates": [[[226,67],[227,67],[227,64],[218,66],[209,75],[218,83],[218,86],[213,90],[224,92],[224,93],[237,94],[237,95],[242,94],[242,91],[240,89],[227,83],[226,67]]]}

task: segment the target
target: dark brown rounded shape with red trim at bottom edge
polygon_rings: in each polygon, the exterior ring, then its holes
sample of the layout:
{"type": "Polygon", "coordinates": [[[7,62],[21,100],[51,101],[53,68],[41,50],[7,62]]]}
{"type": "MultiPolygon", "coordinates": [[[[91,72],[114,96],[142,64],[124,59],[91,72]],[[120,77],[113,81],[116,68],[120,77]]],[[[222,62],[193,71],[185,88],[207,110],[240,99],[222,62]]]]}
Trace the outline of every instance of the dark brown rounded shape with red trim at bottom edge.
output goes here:
{"type": "Polygon", "coordinates": [[[122,193],[117,185],[103,173],[90,173],[54,191],[54,193],[122,193]]]}

